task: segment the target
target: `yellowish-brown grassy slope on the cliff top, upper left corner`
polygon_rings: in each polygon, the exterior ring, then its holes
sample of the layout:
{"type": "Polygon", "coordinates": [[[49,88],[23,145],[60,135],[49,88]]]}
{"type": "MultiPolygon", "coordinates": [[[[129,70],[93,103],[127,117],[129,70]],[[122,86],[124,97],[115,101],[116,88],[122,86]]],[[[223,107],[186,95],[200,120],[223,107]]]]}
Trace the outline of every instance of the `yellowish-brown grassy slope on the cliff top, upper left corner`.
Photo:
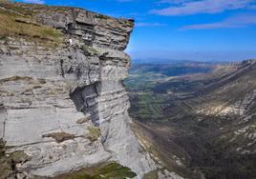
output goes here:
{"type": "Polygon", "coordinates": [[[45,44],[61,44],[63,35],[59,30],[40,25],[28,15],[27,10],[12,4],[1,1],[0,7],[0,38],[7,37],[24,38],[28,41],[45,44]]]}

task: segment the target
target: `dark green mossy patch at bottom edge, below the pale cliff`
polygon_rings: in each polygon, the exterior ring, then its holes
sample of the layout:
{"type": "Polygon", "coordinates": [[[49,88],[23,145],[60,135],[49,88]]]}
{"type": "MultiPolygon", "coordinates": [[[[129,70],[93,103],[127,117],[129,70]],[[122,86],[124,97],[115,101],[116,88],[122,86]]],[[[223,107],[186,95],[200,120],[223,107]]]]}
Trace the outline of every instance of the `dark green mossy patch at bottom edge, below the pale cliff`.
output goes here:
{"type": "Polygon", "coordinates": [[[59,176],[53,177],[53,179],[125,179],[134,178],[137,174],[131,169],[123,167],[116,162],[101,164],[96,167],[80,169],[78,171],[61,174],[59,176]]]}

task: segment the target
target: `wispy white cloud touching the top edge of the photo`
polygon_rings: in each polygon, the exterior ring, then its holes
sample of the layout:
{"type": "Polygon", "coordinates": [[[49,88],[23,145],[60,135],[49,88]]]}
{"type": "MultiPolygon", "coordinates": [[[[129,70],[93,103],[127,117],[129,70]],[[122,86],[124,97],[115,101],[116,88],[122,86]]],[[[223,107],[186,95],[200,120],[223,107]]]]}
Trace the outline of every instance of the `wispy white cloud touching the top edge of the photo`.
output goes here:
{"type": "Polygon", "coordinates": [[[158,15],[190,15],[196,13],[218,13],[224,10],[247,8],[253,0],[161,0],[171,4],[168,8],[151,10],[158,15]]]}

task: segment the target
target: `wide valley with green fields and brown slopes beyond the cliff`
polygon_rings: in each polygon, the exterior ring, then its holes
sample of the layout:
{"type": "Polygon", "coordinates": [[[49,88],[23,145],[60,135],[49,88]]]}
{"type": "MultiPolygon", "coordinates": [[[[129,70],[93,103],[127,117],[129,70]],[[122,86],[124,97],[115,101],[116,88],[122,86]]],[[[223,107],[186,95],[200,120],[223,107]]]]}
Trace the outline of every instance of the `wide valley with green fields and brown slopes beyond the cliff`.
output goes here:
{"type": "Polygon", "coordinates": [[[134,65],[126,82],[134,129],[184,178],[254,179],[256,60],[203,64],[134,65]]]}

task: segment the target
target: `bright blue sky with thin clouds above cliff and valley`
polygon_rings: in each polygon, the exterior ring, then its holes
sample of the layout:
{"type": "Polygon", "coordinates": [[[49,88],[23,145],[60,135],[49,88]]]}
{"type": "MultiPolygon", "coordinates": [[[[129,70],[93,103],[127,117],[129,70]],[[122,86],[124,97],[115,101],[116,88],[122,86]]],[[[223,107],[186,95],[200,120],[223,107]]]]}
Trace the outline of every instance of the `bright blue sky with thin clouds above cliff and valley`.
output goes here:
{"type": "Polygon", "coordinates": [[[133,59],[256,58],[256,0],[23,0],[135,18],[133,59]]]}

